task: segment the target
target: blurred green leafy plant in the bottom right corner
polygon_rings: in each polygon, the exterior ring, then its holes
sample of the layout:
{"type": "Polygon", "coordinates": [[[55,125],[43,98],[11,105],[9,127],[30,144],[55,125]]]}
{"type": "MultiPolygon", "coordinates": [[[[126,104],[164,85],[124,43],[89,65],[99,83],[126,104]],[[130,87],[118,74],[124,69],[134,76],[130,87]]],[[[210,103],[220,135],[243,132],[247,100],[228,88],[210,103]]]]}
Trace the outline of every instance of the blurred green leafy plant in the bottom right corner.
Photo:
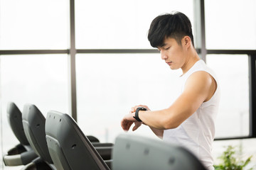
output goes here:
{"type": "MultiPolygon", "coordinates": [[[[242,170],[250,163],[252,156],[248,157],[245,161],[235,157],[235,148],[229,145],[223,154],[219,157],[221,163],[215,165],[215,170],[242,170]]],[[[252,170],[252,168],[250,168],[252,170]]]]}

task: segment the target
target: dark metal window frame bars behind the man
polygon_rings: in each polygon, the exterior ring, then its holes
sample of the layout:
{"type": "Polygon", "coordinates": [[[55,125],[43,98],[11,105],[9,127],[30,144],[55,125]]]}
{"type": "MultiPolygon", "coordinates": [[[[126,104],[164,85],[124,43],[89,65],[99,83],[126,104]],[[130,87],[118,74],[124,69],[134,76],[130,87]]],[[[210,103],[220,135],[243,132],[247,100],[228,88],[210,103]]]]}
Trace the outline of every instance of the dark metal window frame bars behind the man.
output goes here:
{"type": "MultiPolygon", "coordinates": [[[[249,57],[249,93],[250,93],[250,134],[248,136],[221,137],[215,140],[235,140],[256,137],[256,50],[207,50],[204,0],[193,0],[194,21],[196,30],[196,50],[201,59],[206,61],[207,54],[245,54],[249,57]]],[[[75,76],[75,55],[78,53],[158,53],[153,49],[76,49],[75,48],[75,0],[70,0],[70,48],[68,50],[0,50],[1,55],[38,55],[38,54],[68,54],[68,84],[70,115],[77,120],[77,90],[75,76]]],[[[206,61],[207,62],[207,61],[206,61]]],[[[1,118],[1,117],[0,117],[1,118]]]]}

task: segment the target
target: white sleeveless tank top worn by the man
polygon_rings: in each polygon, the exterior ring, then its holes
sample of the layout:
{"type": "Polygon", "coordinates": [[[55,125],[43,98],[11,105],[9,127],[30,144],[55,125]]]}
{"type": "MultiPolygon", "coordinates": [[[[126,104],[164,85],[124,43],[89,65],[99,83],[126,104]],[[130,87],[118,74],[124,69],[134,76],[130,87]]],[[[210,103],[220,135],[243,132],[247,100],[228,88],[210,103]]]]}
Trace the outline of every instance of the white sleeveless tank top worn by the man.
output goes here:
{"type": "Polygon", "coordinates": [[[203,60],[196,62],[191,69],[183,74],[181,79],[181,93],[184,90],[186,80],[194,72],[208,72],[217,82],[215,94],[209,101],[203,102],[198,110],[185,120],[178,128],[164,130],[163,140],[178,143],[189,149],[207,169],[213,170],[213,157],[211,155],[212,143],[215,136],[215,118],[218,113],[220,101],[220,88],[215,73],[206,66],[203,60]]]}

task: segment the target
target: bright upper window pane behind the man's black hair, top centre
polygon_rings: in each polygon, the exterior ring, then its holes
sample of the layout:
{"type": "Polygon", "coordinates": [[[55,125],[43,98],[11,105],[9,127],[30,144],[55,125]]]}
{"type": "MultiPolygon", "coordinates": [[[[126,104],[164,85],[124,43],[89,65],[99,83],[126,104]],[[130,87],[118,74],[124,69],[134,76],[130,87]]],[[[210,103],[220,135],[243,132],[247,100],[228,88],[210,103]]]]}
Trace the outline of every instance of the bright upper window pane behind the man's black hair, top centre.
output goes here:
{"type": "Polygon", "coordinates": [[[156,16],[171,11],[186,13],[193,23],[192,0],[77,0],[75,1],[76,47],[78,49],[151,48],[147,40],[151,21],[156,16]]]}

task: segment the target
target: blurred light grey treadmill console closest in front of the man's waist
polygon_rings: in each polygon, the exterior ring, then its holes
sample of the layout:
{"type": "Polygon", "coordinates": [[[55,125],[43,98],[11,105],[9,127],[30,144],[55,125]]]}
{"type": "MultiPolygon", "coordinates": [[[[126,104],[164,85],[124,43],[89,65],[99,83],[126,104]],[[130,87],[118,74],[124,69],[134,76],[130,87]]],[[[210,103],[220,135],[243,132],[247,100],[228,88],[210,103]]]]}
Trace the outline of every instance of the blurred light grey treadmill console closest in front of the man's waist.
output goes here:
{"type": "Polygon", "coordinates": [[[136,135],[119,135],[112,159],[113,170],[206,170],[184,147],[136,135]]]}

